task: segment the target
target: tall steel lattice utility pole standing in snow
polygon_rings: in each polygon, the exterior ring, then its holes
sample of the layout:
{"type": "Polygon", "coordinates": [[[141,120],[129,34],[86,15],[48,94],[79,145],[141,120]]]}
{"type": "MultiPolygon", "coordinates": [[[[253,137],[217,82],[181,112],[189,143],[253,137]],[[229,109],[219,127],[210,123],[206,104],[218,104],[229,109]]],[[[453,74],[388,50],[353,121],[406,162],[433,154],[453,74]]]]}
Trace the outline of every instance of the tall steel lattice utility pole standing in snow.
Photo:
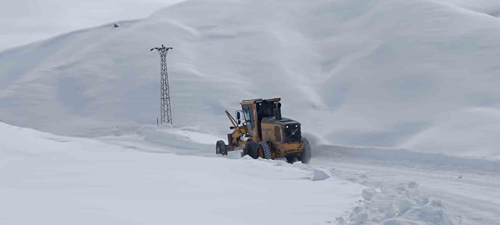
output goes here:
{"type": "Polygon", "coordinates": [[[151,48],[151,51],[156,49],[158,51],[161,67],[160,67],[160,82],[161,82],[161,97],[160,97],[160,110],[161,110],[161,124],[170,123],[172,124],[172,112],[170,107],[170,92],[168,88],[168,73],[166,72],[166,54],[171,47],[164,47],[161,45],[160,48],[151,48]],[[166,118],[166,119],[165,119],[166,118]]]}

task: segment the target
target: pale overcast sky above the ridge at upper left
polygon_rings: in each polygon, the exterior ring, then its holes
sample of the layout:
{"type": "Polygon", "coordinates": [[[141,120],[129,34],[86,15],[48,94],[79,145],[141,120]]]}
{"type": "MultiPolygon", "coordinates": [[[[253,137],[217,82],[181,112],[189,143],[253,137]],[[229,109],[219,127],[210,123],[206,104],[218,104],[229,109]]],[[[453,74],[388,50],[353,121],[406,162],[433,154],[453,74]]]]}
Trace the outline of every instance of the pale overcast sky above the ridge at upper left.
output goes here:
{"type": "Polygon", "coordinates": [[[147,17],[181,0],[0,0],[0,51],[75,29],[147,17]]]}

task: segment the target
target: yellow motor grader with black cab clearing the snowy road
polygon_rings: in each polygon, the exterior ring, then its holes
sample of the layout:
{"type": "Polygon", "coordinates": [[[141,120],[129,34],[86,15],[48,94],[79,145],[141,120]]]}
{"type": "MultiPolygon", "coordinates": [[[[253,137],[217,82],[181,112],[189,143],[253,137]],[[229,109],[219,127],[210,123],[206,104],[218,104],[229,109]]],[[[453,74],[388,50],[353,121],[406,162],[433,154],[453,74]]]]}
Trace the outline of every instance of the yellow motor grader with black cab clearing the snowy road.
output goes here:
{"type": "Polygon", "coordinates": [[[225,114],[232,123],[229,129],[234,131],[227,134],[227,145],[222,140],[217,141],[215,153],[227,155],[228,151],[242,150],[241,157],[285,157],[288,162],[295,158],[302,163],[309,162],[309,142],[301,136],[299,122],[281,117],[280,100],[243,100],[239,103],[241,110],[235,112],[236,119],[226,110],[225,114]]]}

